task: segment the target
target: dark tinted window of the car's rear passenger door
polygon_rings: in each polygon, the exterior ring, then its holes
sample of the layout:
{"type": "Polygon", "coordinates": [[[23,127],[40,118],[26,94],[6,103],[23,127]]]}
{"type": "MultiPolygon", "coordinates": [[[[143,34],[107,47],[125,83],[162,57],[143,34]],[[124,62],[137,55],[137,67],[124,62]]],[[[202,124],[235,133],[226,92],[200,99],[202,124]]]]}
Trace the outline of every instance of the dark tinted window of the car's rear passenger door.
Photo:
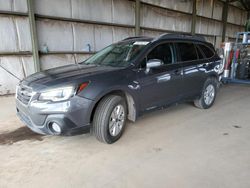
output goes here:
{"type": "Polygon", "coordinates": [[[181,61],[197,60],[197,53],[193,43],[177,43],[181,61]]]}

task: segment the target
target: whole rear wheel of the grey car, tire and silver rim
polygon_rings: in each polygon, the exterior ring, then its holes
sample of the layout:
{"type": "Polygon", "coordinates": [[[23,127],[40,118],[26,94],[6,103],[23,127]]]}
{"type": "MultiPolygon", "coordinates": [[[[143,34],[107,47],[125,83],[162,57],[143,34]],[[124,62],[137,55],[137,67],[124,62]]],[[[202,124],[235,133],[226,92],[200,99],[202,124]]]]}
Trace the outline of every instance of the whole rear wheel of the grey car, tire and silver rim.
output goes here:
{"type": "Polygon", "coordinates": [[[196,107],[201,109],[210,108],[215,101],[218,81],[215,78],[206,80],[200,98],[194,101],[196,107]]]}

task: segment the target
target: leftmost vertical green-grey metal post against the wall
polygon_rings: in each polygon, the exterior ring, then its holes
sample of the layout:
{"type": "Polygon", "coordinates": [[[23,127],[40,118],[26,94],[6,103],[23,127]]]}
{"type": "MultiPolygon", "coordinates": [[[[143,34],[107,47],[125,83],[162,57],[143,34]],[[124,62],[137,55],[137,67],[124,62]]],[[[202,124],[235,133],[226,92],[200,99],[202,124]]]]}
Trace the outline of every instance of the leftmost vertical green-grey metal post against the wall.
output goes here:
{"type": "Polygon", "coordinates": [[[39,61],[36,21],[35,21],[35,13],[34,13],[34,0],[27,0],[27,4],[28,4],[28,13],[29,13],[29,25],[30,25],[33,61],[35,64],[35,71],[39,72],[40,61],[39,61]]]}

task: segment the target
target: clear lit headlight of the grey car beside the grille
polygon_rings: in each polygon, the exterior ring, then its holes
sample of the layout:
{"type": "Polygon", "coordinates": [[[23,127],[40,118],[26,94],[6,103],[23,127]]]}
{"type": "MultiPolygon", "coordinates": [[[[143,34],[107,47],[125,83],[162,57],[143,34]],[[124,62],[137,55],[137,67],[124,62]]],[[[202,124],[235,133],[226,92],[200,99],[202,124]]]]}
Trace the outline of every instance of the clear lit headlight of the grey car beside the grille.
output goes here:
{"type": "Polygon", "coordinates": [[[67,100],[75,94],[75,90],[76,88],[73,86],[47,90],[40,94],[38,100],[54,102],[67,100]]]}

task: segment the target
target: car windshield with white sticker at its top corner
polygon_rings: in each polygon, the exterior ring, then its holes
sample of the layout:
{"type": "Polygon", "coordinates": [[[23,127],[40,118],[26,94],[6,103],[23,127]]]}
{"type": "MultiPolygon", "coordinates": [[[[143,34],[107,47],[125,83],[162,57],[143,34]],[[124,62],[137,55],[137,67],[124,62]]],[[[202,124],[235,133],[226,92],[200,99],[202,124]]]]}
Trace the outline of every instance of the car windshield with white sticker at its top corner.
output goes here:
{"type": "Polygon", "coordinates": [[[148,41],[133,41],[112,44],[83,63],[124,67],[129,65],[148,43],[148,41]]]}

